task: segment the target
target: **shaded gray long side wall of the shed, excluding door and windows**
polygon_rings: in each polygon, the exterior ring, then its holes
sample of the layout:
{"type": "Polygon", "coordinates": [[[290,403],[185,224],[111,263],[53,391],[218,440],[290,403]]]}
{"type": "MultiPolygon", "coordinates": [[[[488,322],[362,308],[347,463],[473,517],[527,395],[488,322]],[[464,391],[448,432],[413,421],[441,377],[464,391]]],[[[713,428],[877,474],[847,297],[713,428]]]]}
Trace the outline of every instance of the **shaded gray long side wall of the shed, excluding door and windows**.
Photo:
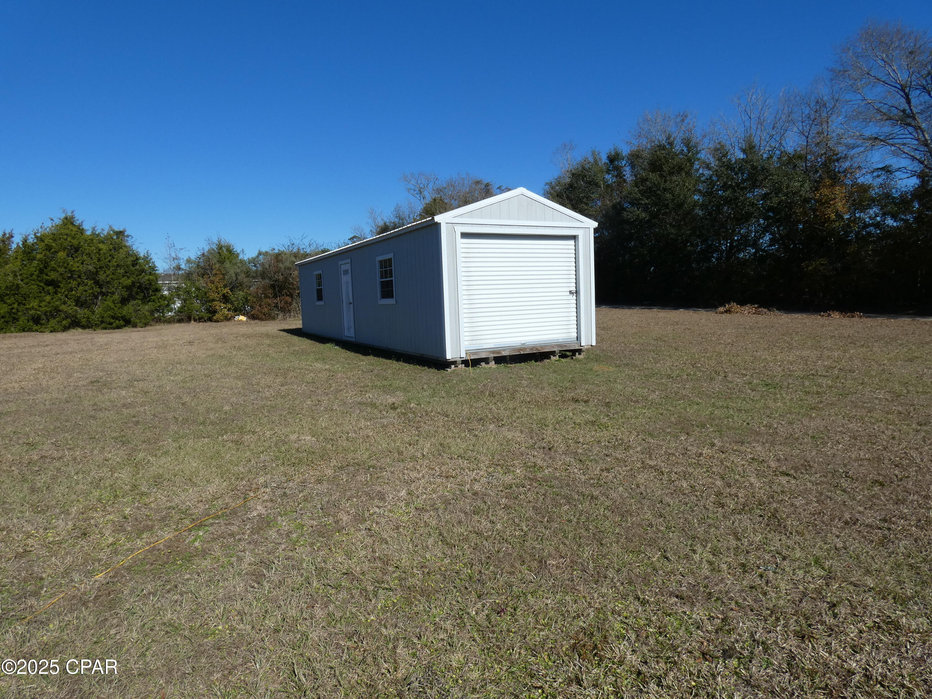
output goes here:
{"type": "Polygon", "coordinates": [[[298,267],[304,332],[446,359],[440,224],[379,240],[298,267]],[[395,303],[379,303],[377,258],[392,255],[395,303]],[[340,263],[349,260],[355,336],[343,334],[340,263]],[[323,303],[314,272],[322,272],[323,303]]]}

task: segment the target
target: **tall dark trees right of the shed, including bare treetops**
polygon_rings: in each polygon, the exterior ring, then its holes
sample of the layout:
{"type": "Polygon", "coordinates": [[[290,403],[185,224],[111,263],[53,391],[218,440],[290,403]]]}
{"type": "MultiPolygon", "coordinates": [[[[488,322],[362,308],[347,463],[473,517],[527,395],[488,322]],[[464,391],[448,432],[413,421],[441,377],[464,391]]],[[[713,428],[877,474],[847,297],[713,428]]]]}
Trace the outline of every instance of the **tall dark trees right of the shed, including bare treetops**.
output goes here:
{"type": "Polygon", "coordinates": [[[869,23],[827,78],[752,88],[700,130],[558,149],[544,195],[595,219],[603,303],[932,308],[932,42],[869,23]]]}

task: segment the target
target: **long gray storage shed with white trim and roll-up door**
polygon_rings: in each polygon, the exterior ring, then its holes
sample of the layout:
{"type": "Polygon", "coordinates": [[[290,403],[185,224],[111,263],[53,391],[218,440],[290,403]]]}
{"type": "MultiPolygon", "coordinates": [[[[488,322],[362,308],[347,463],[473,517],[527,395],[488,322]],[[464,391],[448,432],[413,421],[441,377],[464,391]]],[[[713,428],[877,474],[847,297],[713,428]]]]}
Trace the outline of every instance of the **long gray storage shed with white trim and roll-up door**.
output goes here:
{"type": "Polygon", "coordinates": [[[596,222],[513,189],[297,263],[305,333],[441,363],[596,344],[596,222]]]}

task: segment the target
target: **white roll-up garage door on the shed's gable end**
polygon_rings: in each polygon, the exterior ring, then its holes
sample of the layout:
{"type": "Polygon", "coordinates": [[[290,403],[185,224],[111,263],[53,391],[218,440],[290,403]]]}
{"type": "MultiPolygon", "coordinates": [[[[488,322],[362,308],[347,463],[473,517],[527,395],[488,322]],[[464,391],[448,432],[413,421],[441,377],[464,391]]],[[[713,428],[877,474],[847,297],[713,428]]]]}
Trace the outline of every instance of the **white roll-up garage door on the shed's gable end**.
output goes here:
{"type": "Polygon", "coordinates": [[[573,236],[463,234],[466,351],[576,342],[573,236]]]}

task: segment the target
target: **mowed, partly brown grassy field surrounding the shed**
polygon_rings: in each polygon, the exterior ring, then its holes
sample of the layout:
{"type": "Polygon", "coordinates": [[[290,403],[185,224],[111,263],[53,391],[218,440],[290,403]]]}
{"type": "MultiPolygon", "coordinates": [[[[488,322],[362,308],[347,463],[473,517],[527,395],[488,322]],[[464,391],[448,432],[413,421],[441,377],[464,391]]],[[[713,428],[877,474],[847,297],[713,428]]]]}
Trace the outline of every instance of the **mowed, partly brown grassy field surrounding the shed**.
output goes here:
{"type": "Polygon", "coordinates": [[[294,326],[0,336],[0,655],[119,668],[0,695],[932,696],[932,323],[602,309],[453,372],[294,326]]]}

